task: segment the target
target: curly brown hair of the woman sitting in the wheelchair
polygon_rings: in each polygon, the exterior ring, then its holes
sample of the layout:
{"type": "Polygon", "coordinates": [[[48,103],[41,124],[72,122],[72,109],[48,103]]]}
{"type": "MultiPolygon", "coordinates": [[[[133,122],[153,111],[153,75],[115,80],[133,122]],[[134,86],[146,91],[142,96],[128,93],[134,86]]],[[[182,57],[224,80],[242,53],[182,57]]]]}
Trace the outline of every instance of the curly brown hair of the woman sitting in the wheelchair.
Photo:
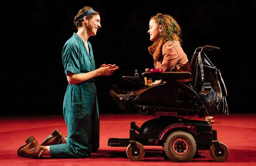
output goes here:
{"type": "Polygon", "coordinates": [[[182,43],[181,28],[172,16],[157,13],[157,15],[152,16],[150,20],[151,19],[155,20],[155,22],[158,24],[158,27],[160,25],[163,25],[163,30],[161,31],[160,37],[156,41],[157,44],[160,42],[161,39],[163,39],[164,42],[167,42],[169,40],[178,40],[180,43],[182,43]]]}

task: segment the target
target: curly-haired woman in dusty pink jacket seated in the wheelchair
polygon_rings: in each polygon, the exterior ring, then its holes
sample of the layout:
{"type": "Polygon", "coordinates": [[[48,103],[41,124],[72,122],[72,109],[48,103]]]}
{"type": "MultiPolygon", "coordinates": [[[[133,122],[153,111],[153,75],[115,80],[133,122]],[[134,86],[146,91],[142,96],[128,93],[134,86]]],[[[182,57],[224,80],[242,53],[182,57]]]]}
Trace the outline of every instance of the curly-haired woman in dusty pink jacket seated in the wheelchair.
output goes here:
{"type": "MultiPolygon", "coordinates": [[[[152,16],[149,22],[150,40],[153,45],[148,47],[149,53],[153,56],[154,67],[163,69],[163,72],[190,72],[191,67],[187,55],[181,48],[181,28],[176,20],[167,14],[157,13],[152,16]]],[[[192,76],[185,80],[176,80],[192,88],[189,81],[192,76]]],[[[163,84],[163,80],[154,81],[151,86],[163,84]]],[[[132,101],[142,92],[150,87],[136,91],[125,92],[116,86],[110,90],[110,96],[123,111],[127,111],[132,101]]]]}

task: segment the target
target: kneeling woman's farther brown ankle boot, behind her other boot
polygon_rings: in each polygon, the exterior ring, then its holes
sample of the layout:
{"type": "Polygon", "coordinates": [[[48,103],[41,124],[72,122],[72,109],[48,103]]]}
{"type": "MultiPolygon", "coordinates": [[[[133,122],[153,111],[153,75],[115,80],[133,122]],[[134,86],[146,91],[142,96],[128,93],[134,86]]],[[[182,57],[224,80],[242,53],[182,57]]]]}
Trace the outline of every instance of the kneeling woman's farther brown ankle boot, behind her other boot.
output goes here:
{"type": "Polygon", "coordinates": [[[41,143],[43,146],[66,143],[67,136],[63,135],[57,128],[41,143]]]}

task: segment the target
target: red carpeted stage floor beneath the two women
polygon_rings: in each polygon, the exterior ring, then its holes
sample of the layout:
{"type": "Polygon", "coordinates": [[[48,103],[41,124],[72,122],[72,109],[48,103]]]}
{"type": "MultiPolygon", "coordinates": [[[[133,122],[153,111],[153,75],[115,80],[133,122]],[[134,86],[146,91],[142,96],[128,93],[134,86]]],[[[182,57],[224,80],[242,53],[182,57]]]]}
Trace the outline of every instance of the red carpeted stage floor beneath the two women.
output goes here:
{"type": "MultiPolygon", "coordinates": [[[[217,129],[218,140],[229,148],[229,158],[225,162],[215,162],[209,150],[199,151],[203,158],[194,158],[188,163],[174,163],[162,156],[162,147],[145,146],[145,156],[141,161],[132,162],[126,156],[125,147],[108,147],[109,138],[128,138],[130,121],[140,127],[153,116],[140,114],[100,115],[100,147],[98,153],[83,159],[31,159],[18,157],[17,150],[25,140],[33,135],[38,143],[58,128],[67,134],[63,116],[0,116],[0,165],[256,165],[256,114],[215,115],[213,129],[217,129]]],[[[191,119],[199,119],[198,116],[191,119]]],[[[204,120],[204,118],[199,119],[204,120]]]]}

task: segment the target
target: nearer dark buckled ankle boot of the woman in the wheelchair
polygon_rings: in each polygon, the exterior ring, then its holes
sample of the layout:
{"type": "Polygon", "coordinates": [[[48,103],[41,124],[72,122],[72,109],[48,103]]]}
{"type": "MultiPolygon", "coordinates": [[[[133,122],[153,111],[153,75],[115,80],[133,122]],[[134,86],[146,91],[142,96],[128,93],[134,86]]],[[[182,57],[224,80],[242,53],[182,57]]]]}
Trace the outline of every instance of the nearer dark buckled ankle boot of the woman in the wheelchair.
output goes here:
{"type": "Polygon", "coordinates": [[[132,101],[135,98],[135,92],[130,92],[126,94],[118,94],[115,90],[111,89],[109,91],[112,99],[119,105],[123,111],[128,111],[132,105],[132,101]]]}

